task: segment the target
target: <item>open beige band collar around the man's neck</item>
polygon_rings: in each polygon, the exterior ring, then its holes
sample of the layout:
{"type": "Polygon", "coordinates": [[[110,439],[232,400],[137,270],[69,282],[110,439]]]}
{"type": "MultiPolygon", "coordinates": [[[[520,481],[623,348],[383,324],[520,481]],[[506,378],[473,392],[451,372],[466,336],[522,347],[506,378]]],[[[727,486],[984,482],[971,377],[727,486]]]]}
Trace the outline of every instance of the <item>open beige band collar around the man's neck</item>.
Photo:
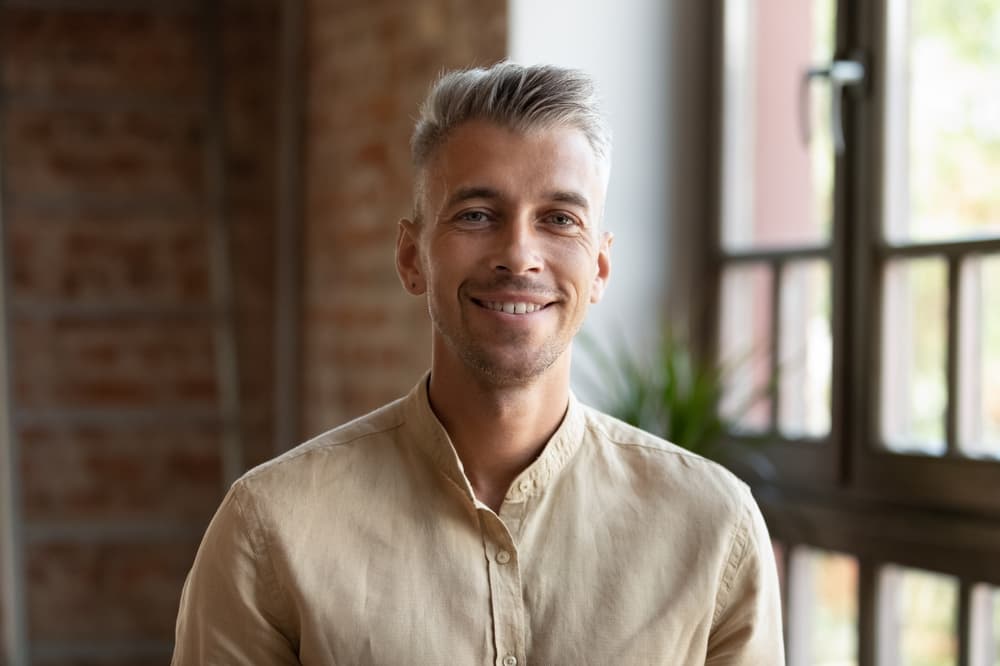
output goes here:
{"type": "MultiPolygon", "coordinates": [[[[459,488],[465,491],[469,501],[479,504],[472,484],[465,475],[465,468],[455,451],[441,421],[431,409],[427,387],[430,372],[424,374],[417,385],[406,396],[404,414],[406,429],[416,440],[416,445],[433,464],[459,488]]],[[[572,391],[562,423],[542,448],[542,452],[526,467],[510,485],[505,502],[524,502],[539,495],[552,484],[583,440],[583,406],[572,391]]]]}

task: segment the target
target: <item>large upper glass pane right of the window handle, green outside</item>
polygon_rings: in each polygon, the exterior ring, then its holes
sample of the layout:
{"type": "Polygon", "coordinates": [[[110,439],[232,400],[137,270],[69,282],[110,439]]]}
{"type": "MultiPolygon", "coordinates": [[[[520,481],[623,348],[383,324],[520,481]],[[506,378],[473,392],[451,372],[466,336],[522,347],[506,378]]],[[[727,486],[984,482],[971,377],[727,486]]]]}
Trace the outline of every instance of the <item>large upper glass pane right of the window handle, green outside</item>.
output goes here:
{"type": "Polygon", "coordinates": [[[886,235],[1000,234],[1000,3],[888,8],[886,235]]]}

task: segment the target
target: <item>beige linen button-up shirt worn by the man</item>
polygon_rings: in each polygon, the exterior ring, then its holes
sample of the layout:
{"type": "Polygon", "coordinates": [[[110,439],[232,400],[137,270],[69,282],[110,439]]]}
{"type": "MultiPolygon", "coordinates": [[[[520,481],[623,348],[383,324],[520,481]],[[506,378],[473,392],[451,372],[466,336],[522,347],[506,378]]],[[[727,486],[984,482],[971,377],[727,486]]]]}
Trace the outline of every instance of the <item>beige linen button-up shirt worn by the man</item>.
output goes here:
{"type": "Polygon", "coordinates": [[[571,397],[496,514],[426,385],[233,485],[174,664],[784,663],[767,529],[733,475],[571,397]]]}

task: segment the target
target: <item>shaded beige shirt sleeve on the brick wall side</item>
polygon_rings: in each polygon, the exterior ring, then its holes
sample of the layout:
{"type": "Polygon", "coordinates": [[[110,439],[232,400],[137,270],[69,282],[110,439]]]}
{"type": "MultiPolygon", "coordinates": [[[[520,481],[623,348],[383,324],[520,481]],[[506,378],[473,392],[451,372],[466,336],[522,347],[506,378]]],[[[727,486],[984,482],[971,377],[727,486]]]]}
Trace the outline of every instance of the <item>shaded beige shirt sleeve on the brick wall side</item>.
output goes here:
{"type": "Polygon", "coordinates": [[[208,526],[181,592],[173,666],[299,664],[290,614],[246,490],[208,526]]]}

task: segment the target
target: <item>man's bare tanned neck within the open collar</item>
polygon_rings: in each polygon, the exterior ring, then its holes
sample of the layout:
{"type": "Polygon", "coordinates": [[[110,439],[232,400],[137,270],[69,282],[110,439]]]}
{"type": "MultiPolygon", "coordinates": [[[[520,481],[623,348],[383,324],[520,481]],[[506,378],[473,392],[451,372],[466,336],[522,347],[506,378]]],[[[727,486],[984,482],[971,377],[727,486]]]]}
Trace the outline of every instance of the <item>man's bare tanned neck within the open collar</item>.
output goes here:
{"type": "Polygon", "coordinates": [[[541,377],[514,387],[491,385],[464,364],[435,358],[428,395],[476,497],[499,511],[511,482],[563,420],[569,351],[541,377]]]}

